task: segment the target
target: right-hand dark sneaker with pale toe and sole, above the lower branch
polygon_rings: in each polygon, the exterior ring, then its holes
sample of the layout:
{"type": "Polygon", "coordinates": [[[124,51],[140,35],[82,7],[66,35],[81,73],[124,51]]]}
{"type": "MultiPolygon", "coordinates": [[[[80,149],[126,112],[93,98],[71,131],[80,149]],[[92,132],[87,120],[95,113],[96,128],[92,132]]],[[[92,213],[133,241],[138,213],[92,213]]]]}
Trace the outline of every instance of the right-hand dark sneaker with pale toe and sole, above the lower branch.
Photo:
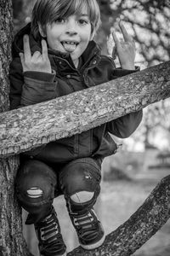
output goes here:
{"type": "Polygon", "coordinates": [[[82,248],[92,250],[102,245],[105,232],[93,208],[83,214],[70,212],[70,217],[82,248]]]}

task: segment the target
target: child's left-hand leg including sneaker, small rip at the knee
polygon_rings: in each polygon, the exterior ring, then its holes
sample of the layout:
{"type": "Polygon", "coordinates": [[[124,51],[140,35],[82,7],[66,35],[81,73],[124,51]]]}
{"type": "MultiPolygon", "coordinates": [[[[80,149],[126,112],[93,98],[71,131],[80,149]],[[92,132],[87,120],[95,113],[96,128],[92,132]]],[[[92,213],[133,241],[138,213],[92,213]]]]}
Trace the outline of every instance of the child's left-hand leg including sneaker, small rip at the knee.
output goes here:
{"type": "Polygon", "coordinates": [[[26,224],[34,224],[38,247],[43,256],[65,256],[66,247],[60,233],[54,207],[57,177],[52,168],[39,160],[27,160],[16,177],[20,205],[29,212],[26,224]]]}

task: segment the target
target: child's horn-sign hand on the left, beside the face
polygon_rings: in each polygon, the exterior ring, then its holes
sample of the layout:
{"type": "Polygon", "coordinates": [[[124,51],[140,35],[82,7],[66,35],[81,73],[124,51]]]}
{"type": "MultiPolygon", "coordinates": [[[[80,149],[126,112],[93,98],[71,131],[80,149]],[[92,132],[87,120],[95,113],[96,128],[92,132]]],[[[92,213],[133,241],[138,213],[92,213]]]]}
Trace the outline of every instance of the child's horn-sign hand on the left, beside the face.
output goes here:
{"type": "Polygon", "coordinates": [[[42,39],[42,54],[39,51],[31,55],[30,43],[28,35],[23,38],[24,54],[20,53],[20,61],[23,67],[23,72],[38,71],[51,73],[51,64],[48,59],[48,47],[45,40],[42,39]]]}

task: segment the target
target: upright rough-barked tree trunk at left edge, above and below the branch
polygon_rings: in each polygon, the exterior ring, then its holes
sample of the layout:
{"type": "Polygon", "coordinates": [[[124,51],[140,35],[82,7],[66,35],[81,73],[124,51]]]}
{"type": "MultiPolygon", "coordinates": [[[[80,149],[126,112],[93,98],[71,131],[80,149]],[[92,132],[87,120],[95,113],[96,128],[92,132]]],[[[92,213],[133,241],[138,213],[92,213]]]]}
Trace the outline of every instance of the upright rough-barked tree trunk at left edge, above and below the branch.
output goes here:
{"type": "MultiPolygon", "coordinates": [[[[0,112],[7,111],[8,65],[11,60],[12,14],[11,1],[0,0],[0,112]]],[[[1,139],[0,139],[1,141],[1,139]]],[[[0,161],[0,255],[28,256],[22,236],[20,207],[14,198],[14,175],[19,156],[0,161]]]]}

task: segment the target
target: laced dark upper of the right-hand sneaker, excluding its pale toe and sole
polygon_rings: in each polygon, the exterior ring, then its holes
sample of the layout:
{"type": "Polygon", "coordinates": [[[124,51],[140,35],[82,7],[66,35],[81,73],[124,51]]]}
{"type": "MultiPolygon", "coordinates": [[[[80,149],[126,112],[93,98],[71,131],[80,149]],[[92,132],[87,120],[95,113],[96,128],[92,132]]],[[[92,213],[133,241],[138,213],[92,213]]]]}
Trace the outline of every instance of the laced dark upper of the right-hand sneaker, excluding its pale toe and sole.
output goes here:
{"type": "Polygon", "coordinates": [[[95,215],[93,210],[82,214],[73,216],[73,224],[75,225],[79,236],[85,238],[86,240],[94,239],[95,236],[98,236],[98,218],[95,215]]]}

